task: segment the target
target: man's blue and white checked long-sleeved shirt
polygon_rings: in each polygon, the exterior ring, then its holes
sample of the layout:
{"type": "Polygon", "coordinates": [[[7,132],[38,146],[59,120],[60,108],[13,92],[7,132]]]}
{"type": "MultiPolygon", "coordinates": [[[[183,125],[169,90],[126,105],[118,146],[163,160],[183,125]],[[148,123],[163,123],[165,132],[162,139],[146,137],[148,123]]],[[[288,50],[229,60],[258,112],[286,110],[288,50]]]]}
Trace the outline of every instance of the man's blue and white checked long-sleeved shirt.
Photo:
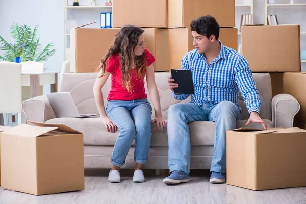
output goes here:
{"type": "MultiPolygon", "coordinates": [[[[220,42],[220,41],[219,41],[220,42]]],[[[220,55],[208,65],[205,55],[196,49],[188,52],[182,59],[181,69],[191,70],[194,94],[191,102],[197,105],[215,105],[223,100],[231,101],[239,109],[240,91],[249,114],[259,113],[261,100],[252,78],[246,59],[234,49],[224,46],[221,42],[220,55]]],[[[177,100],[186,99],[189,94],[176,95],[177,100]]]]}

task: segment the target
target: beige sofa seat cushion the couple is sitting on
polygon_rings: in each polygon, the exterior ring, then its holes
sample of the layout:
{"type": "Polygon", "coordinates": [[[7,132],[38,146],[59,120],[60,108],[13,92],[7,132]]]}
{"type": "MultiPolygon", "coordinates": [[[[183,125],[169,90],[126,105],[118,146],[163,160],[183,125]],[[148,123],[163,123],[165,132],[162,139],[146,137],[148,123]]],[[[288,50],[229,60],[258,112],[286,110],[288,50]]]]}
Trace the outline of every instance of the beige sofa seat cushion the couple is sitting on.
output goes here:
{"type": "MultiPolygon", "coordinates": [[[[61,123],[80,131],[84,134],[84,145],[114,146],[119,133],[107,132],[100,118],[54,118],[46,123],[61,123]]],[[[244,120],[237,121],[240,126],[245,123],[244,120]]],[[[188,123],[188,126],[192,146],[214,145],[215,122],[194,121],[188,123]]],[[[251,127],[254,127],[253,124],[251,127]]],[[[152,124],[151,146],[168,146],[167,127],[158,130],[156,124],[152,124]]]]}

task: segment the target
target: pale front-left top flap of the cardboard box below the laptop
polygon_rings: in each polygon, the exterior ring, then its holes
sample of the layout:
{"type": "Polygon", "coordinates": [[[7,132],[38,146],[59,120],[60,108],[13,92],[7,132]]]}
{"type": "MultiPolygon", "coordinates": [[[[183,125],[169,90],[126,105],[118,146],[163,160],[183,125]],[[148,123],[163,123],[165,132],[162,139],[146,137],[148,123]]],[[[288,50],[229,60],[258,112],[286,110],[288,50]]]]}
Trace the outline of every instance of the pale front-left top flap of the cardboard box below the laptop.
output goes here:
{"type": "Polygon", "coordinates": [[[23,137],[38,137],[42,134],[56,130],[57,127],[37,127],[28,124],[21,124],[3,131],[3,134],[23,136],[23,137]]]}

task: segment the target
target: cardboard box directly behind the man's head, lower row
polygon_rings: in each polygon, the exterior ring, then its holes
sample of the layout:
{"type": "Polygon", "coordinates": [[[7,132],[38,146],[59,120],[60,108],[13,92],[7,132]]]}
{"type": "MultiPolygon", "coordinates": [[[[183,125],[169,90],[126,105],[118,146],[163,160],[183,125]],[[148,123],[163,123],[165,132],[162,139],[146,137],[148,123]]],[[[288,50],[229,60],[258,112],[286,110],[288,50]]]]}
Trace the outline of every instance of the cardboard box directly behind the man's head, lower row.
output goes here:
{"type": "MultiPolygon", "coordinates": [[[[227,47],[237,50],[237,28],[220,28],[219,40],[227,47]]],[[[184,55],[194,49],[190,28],[169,29],[170,67],[180,69],[184,55]]]]}

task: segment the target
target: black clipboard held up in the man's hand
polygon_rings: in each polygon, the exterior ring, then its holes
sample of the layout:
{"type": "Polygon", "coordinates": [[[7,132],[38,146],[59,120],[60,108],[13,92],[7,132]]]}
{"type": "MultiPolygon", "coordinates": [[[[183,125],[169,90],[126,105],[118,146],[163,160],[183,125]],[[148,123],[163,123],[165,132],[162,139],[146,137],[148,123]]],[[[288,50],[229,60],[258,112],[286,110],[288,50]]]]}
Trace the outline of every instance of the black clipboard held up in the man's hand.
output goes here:
{"type": "Polygon", "coordinates": [[[171,77],[179,87],[173,88],[176,94],[194,94],[191,70],[171,69],[171,77]]]}

